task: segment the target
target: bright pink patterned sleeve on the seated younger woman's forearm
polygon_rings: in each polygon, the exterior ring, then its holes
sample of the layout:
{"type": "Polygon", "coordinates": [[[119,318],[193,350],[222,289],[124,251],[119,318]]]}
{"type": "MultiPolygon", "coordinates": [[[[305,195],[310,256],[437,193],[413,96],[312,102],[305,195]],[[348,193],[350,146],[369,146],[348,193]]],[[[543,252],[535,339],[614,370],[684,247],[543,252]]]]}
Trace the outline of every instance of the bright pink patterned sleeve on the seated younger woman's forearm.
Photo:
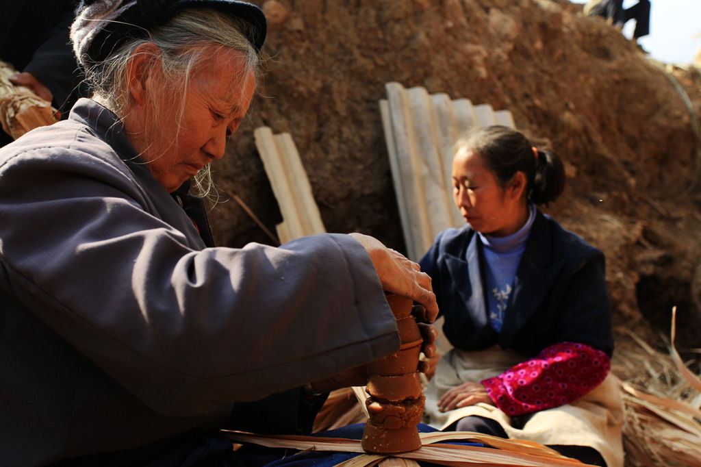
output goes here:
{"type": "Polygon", "coordinates": [[[608,370],[611,360],[606,353],[585,344],[562,342],[480,382],[497,407],[515,416],[572,402],[599,386],[608,370]]]}

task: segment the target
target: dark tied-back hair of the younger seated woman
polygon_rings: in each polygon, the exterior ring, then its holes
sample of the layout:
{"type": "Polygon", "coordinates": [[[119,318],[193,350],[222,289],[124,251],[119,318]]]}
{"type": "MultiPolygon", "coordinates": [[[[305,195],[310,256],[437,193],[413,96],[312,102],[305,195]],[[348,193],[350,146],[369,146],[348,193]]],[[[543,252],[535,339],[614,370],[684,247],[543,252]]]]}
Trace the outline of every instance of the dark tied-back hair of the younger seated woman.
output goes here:
{"type": "Polygon", "coordinates": [[[479,154],[502,187],[516,172],[524,172],[528,199],[536,205],[547,206],[564,190],[565,170],[559,156],[549,149],[534,150],[531,141],[513,128],[475,128],[456,144],[456,149],[463,148],[479,154]]]}

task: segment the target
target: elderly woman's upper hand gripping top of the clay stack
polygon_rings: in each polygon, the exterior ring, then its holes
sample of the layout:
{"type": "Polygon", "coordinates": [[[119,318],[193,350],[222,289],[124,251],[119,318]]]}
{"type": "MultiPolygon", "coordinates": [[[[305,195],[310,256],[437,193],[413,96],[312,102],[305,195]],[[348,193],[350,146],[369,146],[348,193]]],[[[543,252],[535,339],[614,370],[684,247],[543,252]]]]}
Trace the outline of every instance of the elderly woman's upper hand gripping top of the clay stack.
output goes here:
{"type": "Polygon", "coordinates": [[[438,314],[438,305],[428,274],[421,272],[418,264],[390,250],[374,237],[358,233],[349,235],[367,251],[383,289],[422,304],[425,313],[421,321],[433,323],[438,314]]]}

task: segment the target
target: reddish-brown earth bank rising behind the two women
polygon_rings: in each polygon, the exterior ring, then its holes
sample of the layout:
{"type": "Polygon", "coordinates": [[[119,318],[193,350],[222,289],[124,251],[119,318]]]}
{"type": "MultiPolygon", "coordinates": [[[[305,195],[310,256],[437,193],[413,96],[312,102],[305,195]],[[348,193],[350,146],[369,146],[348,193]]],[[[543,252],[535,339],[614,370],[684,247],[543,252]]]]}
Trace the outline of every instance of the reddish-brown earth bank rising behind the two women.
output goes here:
{"type": "MultiPolygon", "coordinates": [[[[697,69],[648,59],[566,0],[255,3],[271,12],[270,60],[217,168],[224,198],[238,194],[275,231],[280,213],[252,137],[270,126],[292,135],[327,231],[403,251],[378,106],[385,83],[509,109],[566,160],[569,185],[548,211],[606,253],[618,339],[632,331],[666,353],[677,306],[677,347],[698,345],[697,69]]],[[[211,218],[220,245],[271,243],[233,200],[211,218]]]]}

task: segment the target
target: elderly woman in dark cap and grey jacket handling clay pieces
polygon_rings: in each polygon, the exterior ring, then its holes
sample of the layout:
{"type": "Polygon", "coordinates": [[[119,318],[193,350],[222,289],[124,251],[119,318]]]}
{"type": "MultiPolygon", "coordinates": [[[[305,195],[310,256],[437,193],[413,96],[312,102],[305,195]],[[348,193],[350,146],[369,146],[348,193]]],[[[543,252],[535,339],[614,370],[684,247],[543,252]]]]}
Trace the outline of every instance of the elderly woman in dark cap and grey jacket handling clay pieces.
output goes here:
{"type": "Polygon", "coordinates": [[[0,151],[5,465],[230,461],[215,428],[308,429],[316,393],[397,351],[385,292],[437,313],[428,276],[369,236],[211,245],[182,186],[224,156],[265,33],[240,1],[81,5],[93,99],[0,151]]]}

